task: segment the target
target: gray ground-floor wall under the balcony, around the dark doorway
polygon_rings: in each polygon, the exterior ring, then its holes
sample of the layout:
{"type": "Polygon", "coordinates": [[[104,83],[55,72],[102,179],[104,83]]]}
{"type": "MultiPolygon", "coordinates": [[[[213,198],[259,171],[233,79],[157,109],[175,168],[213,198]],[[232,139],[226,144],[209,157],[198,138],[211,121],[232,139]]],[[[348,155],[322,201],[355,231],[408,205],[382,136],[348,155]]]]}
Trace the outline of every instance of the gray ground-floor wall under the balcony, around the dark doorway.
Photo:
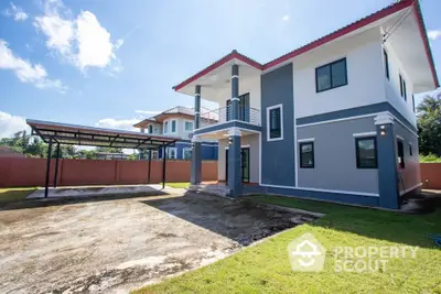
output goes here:
{"type": "MultiPolygon", "coordinates": [[[[249,182],[259,183],[259,134],[249,134],[240,138],[240,145],[249,145],[249,182]]],[[[217,179],[225,181],[225,148],[228,139],[218,141],[217,179]]]]}

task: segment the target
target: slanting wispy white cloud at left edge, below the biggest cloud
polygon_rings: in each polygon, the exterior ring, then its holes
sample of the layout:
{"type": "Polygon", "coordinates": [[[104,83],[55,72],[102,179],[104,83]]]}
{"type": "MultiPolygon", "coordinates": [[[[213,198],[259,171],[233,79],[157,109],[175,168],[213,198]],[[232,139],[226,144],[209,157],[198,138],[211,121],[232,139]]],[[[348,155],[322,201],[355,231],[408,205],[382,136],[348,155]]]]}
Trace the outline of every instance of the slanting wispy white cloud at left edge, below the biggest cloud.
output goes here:
{"type": "Polygon", "coordinates": [[[47,72],[41,64],[32,65],[30,62],[17,57],[9,48],[8,43],[0,39],[0,69],[12,70],[23,83],[34,84],[40,89],[55,88],[64,91],[60,79],[49,79],[47,72]]]}

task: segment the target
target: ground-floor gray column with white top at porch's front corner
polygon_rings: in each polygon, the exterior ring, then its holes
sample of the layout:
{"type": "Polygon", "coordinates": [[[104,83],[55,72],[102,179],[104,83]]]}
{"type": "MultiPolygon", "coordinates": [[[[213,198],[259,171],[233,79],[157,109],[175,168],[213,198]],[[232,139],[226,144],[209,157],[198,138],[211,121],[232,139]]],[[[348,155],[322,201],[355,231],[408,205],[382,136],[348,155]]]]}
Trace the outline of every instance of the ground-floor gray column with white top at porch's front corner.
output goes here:
{"type": "Polygon", "coordinates": [[[228,146],[228,189],[229,196],[237,197],[241,195],[241,149],[240,149],[240,130],[232,128],[229,134],[228,146]]]}

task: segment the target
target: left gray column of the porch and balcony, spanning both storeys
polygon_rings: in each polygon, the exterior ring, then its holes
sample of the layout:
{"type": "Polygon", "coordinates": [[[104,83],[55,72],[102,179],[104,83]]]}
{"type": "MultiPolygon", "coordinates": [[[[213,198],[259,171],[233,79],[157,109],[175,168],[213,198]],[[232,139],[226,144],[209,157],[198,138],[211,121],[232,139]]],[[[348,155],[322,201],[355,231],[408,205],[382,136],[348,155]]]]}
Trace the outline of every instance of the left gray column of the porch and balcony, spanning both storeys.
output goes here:
{"type": "MultiPolygon", "coordinates": [[[[200,128],[201,118],[201,86],[195,87],[194,95],[194,130],[200,128]]],[[[201,184],[202,173],[202,144],[197,135],[192,137],[192,174],[190,183],[192,185],[201,184]]]]}

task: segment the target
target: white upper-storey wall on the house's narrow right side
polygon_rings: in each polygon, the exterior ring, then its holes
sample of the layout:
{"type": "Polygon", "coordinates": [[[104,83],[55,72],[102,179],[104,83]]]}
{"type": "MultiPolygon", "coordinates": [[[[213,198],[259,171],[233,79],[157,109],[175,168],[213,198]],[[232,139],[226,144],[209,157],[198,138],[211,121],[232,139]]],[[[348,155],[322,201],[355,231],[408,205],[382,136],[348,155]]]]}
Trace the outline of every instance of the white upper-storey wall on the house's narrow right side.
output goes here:
{"type": "Polygon", "coordinates": [[[405,118],[416,126],[412,101],[413,83],[410,80],[406,68],[398,59],[390,43],[386,42],[384,47],[389,59],[389,79],[386,77],[386,72],[383,72],[386,98],[405,118]],[[407,101],[400,94],[399,74],[401,74],[406,81],[407,101]]]}

